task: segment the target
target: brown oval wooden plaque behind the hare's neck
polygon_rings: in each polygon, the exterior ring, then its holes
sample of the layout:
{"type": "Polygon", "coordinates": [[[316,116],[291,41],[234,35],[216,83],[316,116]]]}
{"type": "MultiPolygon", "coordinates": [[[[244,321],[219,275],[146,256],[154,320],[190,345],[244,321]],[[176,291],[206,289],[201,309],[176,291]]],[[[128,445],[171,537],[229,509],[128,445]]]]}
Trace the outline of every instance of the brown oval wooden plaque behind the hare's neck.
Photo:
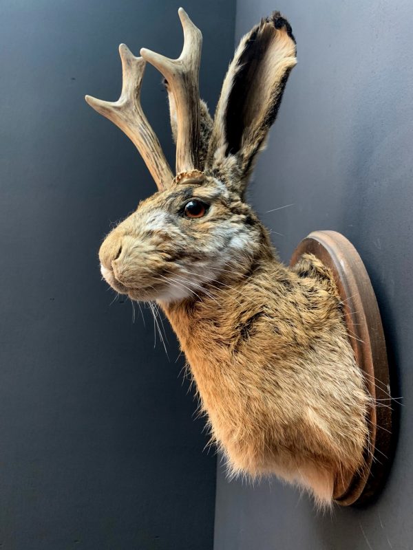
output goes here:
{"type": "Polygon", "coordinates": [[[368,412],[370,437],[362,471],[337,478],[334,499],[340,505],[363,505],[379,492],[388,470],[392,435],[392,409],[388,360],[379,307],[363,261],[345,236],[315,231],[301,241],[291,257],[314,254],[330,268],[344,307],[344,320],[357,364],[374,405],[368,412]]]}

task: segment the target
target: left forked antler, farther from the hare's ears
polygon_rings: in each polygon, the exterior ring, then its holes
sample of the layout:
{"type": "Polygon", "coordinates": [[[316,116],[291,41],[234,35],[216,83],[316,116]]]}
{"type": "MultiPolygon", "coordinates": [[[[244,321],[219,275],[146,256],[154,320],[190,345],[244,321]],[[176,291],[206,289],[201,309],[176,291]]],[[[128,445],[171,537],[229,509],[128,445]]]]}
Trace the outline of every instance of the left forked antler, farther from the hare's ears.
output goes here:
{"type": "Polygon", "coordinates": [[[85,100],[101,115],[112,120],[134,143],[145,161],[159,190],[171,185],[173,174],[162,148],[140,106],[140,87],[145,72],[145,60],[135,57],[127,45],[119,46],[122,60],[122,94],[118,101],[102,101],[85,96],[85,100]]]}

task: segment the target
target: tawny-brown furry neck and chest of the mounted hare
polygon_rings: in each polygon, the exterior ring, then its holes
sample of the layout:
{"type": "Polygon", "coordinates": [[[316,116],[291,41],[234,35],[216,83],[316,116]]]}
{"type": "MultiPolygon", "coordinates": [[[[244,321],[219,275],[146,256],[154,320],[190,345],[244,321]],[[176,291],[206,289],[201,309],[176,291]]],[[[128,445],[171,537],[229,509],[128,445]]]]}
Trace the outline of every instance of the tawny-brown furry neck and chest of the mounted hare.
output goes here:
{"type": "Polygon", "coordinates": [[[329,501],[335,478],[361,467],[367,437],[337,289],[315,258],[297,272],[268,248],[254,261],[252,274],[221,279],[224,294],[208,287],[211,298],[164,309],[231,472],[275,473],[329,501]]]}

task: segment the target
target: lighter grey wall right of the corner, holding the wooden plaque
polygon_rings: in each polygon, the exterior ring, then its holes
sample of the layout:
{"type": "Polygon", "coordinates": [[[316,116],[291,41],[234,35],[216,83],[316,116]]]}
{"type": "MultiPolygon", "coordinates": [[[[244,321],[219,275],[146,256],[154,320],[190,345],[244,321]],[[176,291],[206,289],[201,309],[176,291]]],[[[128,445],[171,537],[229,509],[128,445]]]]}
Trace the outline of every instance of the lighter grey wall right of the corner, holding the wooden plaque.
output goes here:
{"type": "Polygon", "coordinates": [[[295,489],[228,483],[219,469],[215,550],[412,549],[413,3],[238,0],[237,38],[275,8],[293,25],[299,63],[255,172],[253,203],[284,261],[312,230],[354,243],[377,292],[404,407],[390,478],[368,509],[323,516],[295,489]]]}

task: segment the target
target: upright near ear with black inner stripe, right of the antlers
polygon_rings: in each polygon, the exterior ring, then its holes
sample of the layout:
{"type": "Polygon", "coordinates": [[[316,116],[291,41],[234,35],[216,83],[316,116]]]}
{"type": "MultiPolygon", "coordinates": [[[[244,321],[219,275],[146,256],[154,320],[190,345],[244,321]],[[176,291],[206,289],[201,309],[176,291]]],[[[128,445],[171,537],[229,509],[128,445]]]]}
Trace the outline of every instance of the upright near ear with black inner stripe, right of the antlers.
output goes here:
{"type": "Polygon", "coordinates": [[[295,39],[279,12],[244,36],[224,79],[206,170],[244,194],[257,152],[273,124],[290,70],[295,39]]]}

